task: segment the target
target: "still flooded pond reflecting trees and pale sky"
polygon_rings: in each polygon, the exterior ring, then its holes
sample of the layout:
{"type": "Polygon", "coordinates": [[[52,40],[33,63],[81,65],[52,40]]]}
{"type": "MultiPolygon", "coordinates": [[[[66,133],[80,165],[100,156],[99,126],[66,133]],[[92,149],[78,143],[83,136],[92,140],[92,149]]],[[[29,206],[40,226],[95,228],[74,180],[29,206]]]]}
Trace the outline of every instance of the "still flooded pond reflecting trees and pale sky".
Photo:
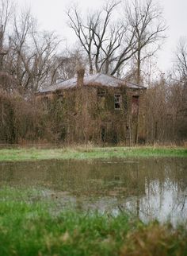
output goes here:
{"type": "Polygon", "coordinates": [[[62,210],[187,219],[187,158],[1,163],[0,184],[39,188],[62,210]]]}

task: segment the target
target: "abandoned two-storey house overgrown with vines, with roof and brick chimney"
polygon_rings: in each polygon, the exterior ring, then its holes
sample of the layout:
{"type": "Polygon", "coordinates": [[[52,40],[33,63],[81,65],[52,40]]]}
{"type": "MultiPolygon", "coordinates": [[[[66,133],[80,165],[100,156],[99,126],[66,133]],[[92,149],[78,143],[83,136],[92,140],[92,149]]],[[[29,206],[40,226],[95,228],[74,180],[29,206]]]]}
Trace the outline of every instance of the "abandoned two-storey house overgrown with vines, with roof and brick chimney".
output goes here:
{"type": "Polygon", "coordinates": [[[145,141],[143,99],[146,88],[97,73],[40,90],[36,99],[45,106],[60,101],[63,126],[59,140],[132,145],[145,141]]]}

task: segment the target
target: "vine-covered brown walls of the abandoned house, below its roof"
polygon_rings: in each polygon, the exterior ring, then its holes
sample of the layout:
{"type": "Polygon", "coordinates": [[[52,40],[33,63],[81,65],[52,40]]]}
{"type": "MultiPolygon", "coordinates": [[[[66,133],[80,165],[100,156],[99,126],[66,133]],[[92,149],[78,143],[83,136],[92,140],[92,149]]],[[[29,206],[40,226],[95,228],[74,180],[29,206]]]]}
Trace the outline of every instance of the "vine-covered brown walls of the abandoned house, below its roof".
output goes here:
{"type": "Polygon", "coordinates": [[[132,145],[137,133],[144,138],[141,90],[90,85],[38,95],[37,99],[44,97],[62,103],[63,134],[59,138],[64,142],[132,145]],[[114,95],[121,95],[120,109],[115,109],[114,95]],[[139,111],[134,114],[132,96],[139,96],[139,111]]]}

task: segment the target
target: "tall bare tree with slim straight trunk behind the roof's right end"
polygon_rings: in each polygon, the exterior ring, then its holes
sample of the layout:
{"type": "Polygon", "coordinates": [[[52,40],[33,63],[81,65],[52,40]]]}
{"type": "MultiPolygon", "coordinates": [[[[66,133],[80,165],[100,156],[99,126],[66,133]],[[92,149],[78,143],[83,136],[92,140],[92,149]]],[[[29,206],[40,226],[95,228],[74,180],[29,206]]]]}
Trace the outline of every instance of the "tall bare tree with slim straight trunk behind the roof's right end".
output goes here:
{"type": "Polygon", "coordinates": [[[140,83],[141,64],[157,52],[166,37],[162,9],[154,0],[133,0],[126,7],[128,25],[135,31],[136,83],[140,83]]]}

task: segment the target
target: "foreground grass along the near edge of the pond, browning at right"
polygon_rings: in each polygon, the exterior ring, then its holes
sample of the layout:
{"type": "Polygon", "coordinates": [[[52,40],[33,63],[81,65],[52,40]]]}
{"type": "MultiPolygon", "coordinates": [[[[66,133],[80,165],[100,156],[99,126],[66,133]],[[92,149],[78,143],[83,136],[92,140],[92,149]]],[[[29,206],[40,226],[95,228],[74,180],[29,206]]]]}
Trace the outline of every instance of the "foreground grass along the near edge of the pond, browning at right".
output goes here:
{"type": "Polygon", "coordinates": [[[0,196],[3,256],[187,254],[184,226],[174,229],[156,221],[143,224],[124,213],[86,214],[71,209],[54,215],[54,205],[30,200],[40,197],[36,190],[2,188],[0,196]]]}

